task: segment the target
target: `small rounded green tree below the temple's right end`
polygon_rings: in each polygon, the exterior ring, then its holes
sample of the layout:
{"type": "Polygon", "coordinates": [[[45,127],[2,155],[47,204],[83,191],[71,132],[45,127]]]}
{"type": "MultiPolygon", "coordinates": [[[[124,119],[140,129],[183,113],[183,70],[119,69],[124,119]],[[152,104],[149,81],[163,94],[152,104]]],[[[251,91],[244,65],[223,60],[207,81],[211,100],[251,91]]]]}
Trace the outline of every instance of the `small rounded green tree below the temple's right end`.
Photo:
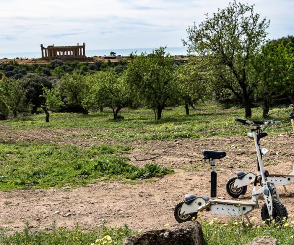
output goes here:
{"type": "Polygon", "coordinates": [[[66,98],[67,104],[82,107],[83,114],[88,114],[82,101],[89,93],[89,82],[85,76],[77,73],[65,74],[60,79],[59,91],[66,98]]]}

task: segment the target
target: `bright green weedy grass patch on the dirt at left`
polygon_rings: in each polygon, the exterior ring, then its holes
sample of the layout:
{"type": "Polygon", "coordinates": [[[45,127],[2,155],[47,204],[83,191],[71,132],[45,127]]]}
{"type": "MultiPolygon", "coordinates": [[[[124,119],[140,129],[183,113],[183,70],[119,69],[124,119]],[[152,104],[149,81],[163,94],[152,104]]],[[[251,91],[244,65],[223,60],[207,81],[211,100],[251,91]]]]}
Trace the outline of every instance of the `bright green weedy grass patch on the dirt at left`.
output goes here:
{"type": "Polygon", "coordinates": [[[121,156],[129,146],[79,148],[54,143],[0,143],[0,190],[78,186],[101,177],[142,179],[172,170],[157,164],[138,167],[121,156]]]}

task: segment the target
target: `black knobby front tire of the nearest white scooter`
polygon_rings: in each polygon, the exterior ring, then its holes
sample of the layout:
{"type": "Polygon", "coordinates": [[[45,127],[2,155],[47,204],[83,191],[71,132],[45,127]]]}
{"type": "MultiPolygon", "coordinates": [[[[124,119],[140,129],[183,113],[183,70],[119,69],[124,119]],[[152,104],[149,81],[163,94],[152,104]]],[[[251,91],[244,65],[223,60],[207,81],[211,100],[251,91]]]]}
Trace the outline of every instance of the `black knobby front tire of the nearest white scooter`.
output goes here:
{"type": "Polygon", "coordinates": [[[266,221],[267,224],[272,223],[282,223],[284,221],[284,217],[286,220],[288,219],[288,212],[286,207],[279,201],[272,200],[272,217],[269,215],[269,210],[267,204],[265,203],[261,208],[261,218],[263,221],[266,221]]]}

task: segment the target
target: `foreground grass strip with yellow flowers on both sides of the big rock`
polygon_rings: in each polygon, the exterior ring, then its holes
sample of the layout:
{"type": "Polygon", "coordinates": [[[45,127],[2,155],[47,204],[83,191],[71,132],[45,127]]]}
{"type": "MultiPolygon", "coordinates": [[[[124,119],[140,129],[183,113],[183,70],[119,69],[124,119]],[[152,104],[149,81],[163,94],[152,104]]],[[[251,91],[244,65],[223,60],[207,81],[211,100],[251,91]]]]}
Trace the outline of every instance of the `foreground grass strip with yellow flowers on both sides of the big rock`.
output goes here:
{"type": "MultiPolygon", "coordinates": [[[[251,242],[255,237],[270,236],[277,239],[278,244],[294,244],[294,221],[283,225],[266,224],[248,225],[243,222],[229,221],[223,223],[215,218],[212,221],[201,221],[204,239],[208,245],[243,245],[251,242]]],[[[73,230],[59,228],[54,224],[49,231],[30,231],[28,223],[22,232],[6,234],[0,230],[0,244],[89,244],[89,245],[122,245],[123,240],[140,231],[132,231],[127,225],[124,227],[106,227],[105,225],[85,231],[75,226],[73,230]]]]}

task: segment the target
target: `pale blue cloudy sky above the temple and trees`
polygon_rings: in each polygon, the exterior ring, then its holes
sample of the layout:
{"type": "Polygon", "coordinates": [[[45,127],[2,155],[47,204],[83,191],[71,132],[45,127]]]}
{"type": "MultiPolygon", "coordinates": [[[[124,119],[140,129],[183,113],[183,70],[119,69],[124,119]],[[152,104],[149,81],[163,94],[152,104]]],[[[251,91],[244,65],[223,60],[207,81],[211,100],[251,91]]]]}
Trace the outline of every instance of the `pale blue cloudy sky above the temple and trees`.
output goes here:
{"type": "MultiPolygon", "coordinates": [[[[294,34],[294,0],[240,0],[270,20],[268,38],[294,34]]],[[[0,0],[0,53],[86,43],[86,50],[182,47],[186,29],[229,0],[0,0]]],[[[40,51],[41,52],[41,51],[40,51]]]]}

